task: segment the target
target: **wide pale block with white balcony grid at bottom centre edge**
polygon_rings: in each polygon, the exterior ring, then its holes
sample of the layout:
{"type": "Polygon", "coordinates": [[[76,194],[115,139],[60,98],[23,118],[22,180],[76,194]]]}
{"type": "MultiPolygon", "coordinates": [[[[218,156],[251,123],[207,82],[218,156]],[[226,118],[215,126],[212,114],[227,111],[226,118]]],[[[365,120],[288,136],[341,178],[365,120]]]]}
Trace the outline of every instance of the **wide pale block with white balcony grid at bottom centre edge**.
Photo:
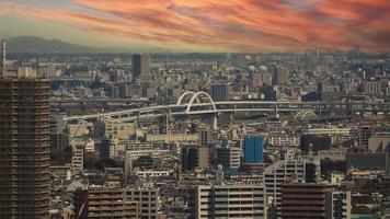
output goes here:
{"type": "Polygon", "coordinates": [[[191,218],[265,218],[263,185],[198,185],[194,196],[191,218]]]}

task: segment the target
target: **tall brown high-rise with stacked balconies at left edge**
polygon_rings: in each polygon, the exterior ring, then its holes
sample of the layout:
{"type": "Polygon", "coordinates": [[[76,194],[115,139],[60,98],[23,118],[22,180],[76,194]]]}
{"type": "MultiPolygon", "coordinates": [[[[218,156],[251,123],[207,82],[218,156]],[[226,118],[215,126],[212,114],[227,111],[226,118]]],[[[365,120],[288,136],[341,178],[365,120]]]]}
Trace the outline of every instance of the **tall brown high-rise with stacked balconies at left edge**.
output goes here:
{"type": "Polygon", "coordinates": [[[0,218],[48,218],[48,81],[0,79],[0,218]]]}

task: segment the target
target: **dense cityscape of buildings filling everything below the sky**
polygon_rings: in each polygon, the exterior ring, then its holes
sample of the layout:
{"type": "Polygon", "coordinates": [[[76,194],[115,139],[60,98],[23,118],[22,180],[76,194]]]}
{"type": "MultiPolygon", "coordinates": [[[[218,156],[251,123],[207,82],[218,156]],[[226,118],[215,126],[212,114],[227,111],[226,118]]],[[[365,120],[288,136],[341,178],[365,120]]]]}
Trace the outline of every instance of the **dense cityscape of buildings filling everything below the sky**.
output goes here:
{"type": "Polygon", "coordinates": [[[390,218],[390,55],[7,54],[0,218],[390,218]]]}

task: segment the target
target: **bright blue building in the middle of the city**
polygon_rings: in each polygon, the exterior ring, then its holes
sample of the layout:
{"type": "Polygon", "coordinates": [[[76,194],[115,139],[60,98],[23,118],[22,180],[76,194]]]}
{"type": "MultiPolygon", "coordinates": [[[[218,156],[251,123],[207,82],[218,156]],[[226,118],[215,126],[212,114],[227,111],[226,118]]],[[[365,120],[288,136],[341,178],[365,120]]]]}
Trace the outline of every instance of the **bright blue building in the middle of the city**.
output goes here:
{"type": "Polygon", "coordinates": [[[263,159],[264,138],[259,136],[250,136],[244,139],[244,162],[245,163],[262,163],[263,159]]]}

